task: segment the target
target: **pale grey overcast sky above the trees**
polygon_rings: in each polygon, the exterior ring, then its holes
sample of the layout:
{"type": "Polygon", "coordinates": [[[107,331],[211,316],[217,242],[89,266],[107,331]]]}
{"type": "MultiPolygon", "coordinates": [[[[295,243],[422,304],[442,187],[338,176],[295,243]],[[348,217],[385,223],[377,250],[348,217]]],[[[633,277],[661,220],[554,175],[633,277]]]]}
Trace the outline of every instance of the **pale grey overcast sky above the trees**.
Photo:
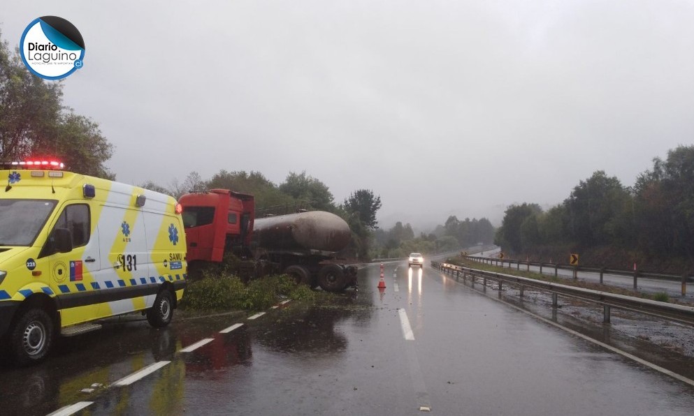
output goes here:
{"type": "Polygon", "coordinates": [[[131,184],[305,170],[386,227],[498,224],[694,142],[692,1],[12,0],[3,40],[43,15],[82,33],[64,103],[131,184]]]}

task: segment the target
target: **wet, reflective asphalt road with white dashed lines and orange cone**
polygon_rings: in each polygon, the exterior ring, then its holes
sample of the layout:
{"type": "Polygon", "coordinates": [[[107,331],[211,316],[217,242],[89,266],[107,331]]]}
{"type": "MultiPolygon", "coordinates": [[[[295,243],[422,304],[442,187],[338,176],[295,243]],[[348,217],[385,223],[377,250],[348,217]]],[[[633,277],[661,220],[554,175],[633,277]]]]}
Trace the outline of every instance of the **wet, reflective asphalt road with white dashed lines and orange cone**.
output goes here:
{"type": "MultiPolygon", "coordinates": [[[[498,302],[491,288],[483,294],[479,285],[403,262],[385,265],[383,291],[378,281],[372,265],[361,270],[358,293],[331,305],[289,302],[253,317],[177,315],[164,330],[120,322],[64,339],[39,366],[0,369],[0,413],[694,412],[693,385],[498,302]]],[[[551,320],[549,309],[526,303],[551,320]]]]}

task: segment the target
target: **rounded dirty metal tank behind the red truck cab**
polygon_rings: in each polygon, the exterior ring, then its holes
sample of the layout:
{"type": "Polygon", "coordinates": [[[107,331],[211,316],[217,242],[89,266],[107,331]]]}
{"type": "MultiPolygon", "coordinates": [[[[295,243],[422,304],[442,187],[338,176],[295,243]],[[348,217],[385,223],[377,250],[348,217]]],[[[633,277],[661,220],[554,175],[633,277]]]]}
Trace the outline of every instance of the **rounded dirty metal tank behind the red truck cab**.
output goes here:
{"type": "Polygon", "coordinates": [[[340,251],[349,244],[349,225],[335,214],[308,211],[255,218],[252,246],[266,250],[340,251]]]}

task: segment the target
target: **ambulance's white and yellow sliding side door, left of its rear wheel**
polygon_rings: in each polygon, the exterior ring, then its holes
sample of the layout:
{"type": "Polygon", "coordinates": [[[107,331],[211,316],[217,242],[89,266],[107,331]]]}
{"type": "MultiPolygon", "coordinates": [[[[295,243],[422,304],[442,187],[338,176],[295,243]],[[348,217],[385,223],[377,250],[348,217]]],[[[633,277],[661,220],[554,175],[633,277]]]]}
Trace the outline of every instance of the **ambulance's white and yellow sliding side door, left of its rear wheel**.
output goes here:
{"type": "Polygon", "coordinates": [[[103,273],[103,316],[145,309],[145,296],[156,290],[147,265],[145,225],[139,209],[104,205],[99,217],[103,273]],[[106,271],[108,269],[108,272],[106,271]]]}

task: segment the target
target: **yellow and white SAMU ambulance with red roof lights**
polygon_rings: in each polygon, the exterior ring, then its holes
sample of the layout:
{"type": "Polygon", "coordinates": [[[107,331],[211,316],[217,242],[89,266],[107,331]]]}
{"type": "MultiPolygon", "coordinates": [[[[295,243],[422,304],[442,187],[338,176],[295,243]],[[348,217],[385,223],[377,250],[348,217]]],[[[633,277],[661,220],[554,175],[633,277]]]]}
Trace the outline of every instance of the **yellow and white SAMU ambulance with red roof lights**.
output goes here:
{"type": "Polygon", "coordinates": [[[187,263],[168,195],[75,174],[56,161],[0,163],[0,343],[15,364],[56,336],[142,311],[171,322],[187,263]],[[3,189],[4,188],[4,189],[3,189]]]}

